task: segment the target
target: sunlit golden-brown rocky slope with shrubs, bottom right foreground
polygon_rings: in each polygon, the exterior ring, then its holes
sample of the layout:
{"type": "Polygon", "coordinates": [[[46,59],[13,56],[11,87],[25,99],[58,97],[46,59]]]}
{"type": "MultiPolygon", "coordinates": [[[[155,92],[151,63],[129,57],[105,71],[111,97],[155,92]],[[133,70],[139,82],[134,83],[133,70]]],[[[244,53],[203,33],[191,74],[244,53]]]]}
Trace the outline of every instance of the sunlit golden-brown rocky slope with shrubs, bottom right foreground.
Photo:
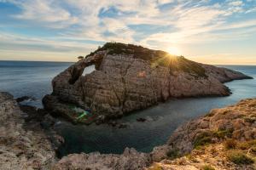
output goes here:
{"type": "Polygon", "coordinates": [[[165,145],[154,148],[152,159],[160,162],[152,167],[254,169],[255,149],[256,99],[244,99],[178,127],[165,145]]]}

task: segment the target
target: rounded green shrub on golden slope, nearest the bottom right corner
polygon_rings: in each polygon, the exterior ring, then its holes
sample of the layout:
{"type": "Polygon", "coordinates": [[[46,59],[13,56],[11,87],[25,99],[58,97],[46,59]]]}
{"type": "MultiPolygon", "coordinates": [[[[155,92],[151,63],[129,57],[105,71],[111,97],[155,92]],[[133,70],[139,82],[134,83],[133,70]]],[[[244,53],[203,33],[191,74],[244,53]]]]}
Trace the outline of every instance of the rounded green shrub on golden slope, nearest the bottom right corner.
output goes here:
{"type": "Polygon", "coordinates": [[[248,165],[254,162],[252,158],[246,156],[245,154],[238,150],[228,152],[227,157],[230,161],[233,161],[237,165],[248,165]]]}

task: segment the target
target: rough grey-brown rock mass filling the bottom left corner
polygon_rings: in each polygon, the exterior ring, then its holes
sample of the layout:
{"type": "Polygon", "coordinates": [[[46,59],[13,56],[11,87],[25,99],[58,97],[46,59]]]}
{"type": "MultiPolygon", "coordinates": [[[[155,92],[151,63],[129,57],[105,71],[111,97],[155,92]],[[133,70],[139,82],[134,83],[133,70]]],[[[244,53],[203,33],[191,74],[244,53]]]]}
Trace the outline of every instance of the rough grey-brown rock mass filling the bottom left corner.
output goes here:
{"type": "Polygon", "coordinates": [[[50,169],[55,150],[40,127],[24,126],[24,116],[13,96],[0,93],[0,169],[50,169]]]}

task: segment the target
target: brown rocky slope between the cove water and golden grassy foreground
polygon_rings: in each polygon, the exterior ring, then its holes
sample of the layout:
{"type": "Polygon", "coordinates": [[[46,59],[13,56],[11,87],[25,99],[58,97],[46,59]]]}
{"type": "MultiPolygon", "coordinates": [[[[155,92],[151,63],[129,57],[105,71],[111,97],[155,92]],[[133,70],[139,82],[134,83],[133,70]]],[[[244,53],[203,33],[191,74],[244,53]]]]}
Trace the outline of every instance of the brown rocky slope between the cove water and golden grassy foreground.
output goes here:
{"type": "Polygon", "coordinates": [[[151,153],[153,160],[166,157],[170,150],[188,154],[199,141],[214,144],[227,138],[240,141],[256,139],[255,116],[256,99],[243,99],[236,105],[213,109],[207,116],[178,127],[165,145],[154,148],[151,153]]]}

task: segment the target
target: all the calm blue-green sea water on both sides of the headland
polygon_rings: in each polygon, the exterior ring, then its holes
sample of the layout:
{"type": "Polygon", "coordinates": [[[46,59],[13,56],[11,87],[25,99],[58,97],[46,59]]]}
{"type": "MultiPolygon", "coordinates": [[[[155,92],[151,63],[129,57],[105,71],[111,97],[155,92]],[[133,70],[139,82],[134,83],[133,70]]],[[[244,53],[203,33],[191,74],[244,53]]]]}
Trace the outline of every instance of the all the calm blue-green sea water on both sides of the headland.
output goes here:
{"type": "MultiPolygon", "coordinates": [[[[41,99],[51,92],[51,79],[71,63],[53,62],[7,62],[0,61],[0,91],[8,91],[15,97],[30,95],[38,100],[30,105],[41,107],[41,99]]],[[[228,97],[173,99],[144,111],[125,116],[119,122],[128,124],[119,129],[108,125],[72,125],[60,121],[55,125],[66,140],[60,154],[100,151],[122,153],[125,147],[149,152],[155,145],[165,144],[172,132],[183,122],[205,115],[212,108],[233,105],[240,99],[256,97],[256,66],[221,65],[241,71],[252,80],[225,83],[232,93],[228,97]],[[137,122],[138,117],[148,117],[149,122],[137,122]]]]}

